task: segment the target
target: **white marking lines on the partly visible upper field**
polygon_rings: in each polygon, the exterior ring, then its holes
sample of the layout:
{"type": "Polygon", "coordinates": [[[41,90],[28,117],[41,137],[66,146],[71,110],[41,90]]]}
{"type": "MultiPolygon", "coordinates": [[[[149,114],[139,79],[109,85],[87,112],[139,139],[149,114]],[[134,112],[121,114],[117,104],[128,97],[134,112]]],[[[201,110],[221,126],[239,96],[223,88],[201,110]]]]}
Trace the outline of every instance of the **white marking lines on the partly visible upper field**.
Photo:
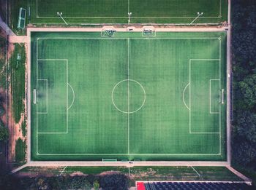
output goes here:
{"type": "MultiPolygon", "coordinates": [[[[36,2],[37,4],[37,18],[56,18],[56,17],[39,17],[38,16],[38,2],[36,2]]],[[[128,0],[128,4],[127,4],[127,9],[129,12],[129,0],[128,0]]],[[[222,0],[219,0],[219,15],[217,17],[202,17],[202,18],[220,18],[222,17],[222,0]]],[[[113,19],[113,18],[127,18],[127,17],[64,17],[64,18],[106,18],[106,19],[113,19]]],[[[143,18],[143,19],[150,19],[150,18],[194,18],[194,17],[134,17],[134,18],[143,18]]]]}

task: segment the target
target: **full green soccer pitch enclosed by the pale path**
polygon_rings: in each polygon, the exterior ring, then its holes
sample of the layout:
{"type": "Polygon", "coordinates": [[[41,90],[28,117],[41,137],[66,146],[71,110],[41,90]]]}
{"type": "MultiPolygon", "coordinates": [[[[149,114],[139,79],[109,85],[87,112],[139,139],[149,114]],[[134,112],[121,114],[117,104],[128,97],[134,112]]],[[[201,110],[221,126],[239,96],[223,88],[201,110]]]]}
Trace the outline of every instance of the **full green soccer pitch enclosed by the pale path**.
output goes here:
{"type": "Polygon", "coordinates": [[[101,34],[31,33],[31,159],[225,160],[226,33],[101,34]]]}

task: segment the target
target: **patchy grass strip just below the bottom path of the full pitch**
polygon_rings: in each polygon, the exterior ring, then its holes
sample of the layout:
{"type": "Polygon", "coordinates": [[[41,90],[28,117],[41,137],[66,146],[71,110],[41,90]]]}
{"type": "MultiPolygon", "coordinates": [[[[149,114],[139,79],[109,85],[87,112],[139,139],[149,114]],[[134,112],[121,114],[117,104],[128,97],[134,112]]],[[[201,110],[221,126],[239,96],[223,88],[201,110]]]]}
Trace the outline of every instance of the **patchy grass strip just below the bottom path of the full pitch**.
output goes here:
{"type": "Polygon", "coordinates": [[[230,172],[227,167],[194,167],[200,177],[195,173],[192,167],[177,166],[136,166],[136,167],[25,167],[21,173],[31,173],[37,175],[59,175],[62,170],[63,174],[83,173],[86,175],[99,175],[105,172],[120,172],[129,175],[132,186],[135,181],[241,181],[235,174],[230,172]]]}

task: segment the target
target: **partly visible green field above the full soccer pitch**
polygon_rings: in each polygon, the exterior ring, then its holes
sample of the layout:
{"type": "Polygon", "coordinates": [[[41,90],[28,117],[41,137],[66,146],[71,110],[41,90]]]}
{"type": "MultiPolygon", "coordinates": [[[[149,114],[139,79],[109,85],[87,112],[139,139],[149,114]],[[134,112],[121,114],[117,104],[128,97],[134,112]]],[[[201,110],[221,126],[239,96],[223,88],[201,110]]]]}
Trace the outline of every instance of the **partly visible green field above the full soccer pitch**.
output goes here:
{"type": "Polygon", "coordinates": [[[195,23],[227,21],[228,0],[30,0],[31,23],[195,23]]]}

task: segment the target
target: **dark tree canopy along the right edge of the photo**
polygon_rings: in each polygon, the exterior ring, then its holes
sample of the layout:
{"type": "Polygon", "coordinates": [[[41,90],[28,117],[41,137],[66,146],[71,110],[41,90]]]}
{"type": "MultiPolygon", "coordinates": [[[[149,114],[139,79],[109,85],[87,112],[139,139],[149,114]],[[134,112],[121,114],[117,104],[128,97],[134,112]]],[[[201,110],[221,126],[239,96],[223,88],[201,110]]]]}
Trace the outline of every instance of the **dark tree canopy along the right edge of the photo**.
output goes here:
{"type": "Polygon", "coordinates": [[[256,170],[256,1],[232,1],[233,165],[256,170]]]}

